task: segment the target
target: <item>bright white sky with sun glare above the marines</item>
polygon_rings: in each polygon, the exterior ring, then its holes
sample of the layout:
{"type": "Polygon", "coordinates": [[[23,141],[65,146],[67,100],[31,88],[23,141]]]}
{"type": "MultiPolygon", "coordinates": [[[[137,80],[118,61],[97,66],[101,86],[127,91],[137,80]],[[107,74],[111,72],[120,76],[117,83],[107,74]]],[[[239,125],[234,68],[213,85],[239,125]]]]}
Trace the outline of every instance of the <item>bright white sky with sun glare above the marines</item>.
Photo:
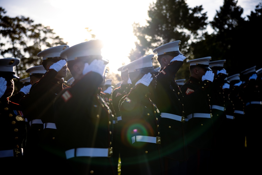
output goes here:
{"type": "MultiPolygon", "coordinates": [[[[254,11],[262,0],[238,0],[238,5],[244,8],[244,16],[254,11]]],[[[149,4],[155,0],[0,0],[10,17],[25,16],[50,26],[54,32],[73,46],[85,39],[91,39],[85,28],[92,29],[96,39],[103,40],[103,56],[110,61],[107,65],[111,72],[117,71],[122,63],[130,62],[129,52],[135,47],[136,37],[133,35],[134,22],[145,24],[148,18],[149,4]]],[[[212,20],[223,5],[223,0],[186,0],[189,7],[203,5],[212,20]]],[[[154,53],[152,53],[154,54],[154,53]]]]}

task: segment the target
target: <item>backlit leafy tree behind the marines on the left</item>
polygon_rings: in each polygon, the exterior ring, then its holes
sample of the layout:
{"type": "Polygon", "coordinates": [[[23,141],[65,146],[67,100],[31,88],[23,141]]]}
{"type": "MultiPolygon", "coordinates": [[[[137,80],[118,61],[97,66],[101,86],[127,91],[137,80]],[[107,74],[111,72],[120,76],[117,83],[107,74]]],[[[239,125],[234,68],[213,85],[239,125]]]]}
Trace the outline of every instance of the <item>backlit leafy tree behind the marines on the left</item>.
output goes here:
{"type": "Polygon", "coordinates": [[[41,58],[37,57],[40,51],[67,45],[49,26],[34,24],[24,16],[11,18],[5,14],[5,9],[0,7],[0,55],[20,60],[16,67],[19,77],[26,76],[27,68],[41,64],[41,58]]]}

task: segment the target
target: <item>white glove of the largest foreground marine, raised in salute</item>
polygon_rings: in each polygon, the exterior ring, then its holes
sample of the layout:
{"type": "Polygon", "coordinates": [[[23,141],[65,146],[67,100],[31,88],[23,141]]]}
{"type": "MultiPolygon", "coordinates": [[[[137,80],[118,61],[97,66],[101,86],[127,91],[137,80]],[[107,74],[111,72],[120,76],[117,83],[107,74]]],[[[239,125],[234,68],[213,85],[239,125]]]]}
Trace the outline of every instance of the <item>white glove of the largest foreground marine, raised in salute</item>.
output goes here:
{"type": "Polygon", "coordinates": [[[94,60],[90,63],[90,65],[88,63],[85,63],[83,75],[92,71],[92,72],[99,73],[101,76],[103,76],[105,73],[105,68],[106,65],[103,60],[94,60]]]}

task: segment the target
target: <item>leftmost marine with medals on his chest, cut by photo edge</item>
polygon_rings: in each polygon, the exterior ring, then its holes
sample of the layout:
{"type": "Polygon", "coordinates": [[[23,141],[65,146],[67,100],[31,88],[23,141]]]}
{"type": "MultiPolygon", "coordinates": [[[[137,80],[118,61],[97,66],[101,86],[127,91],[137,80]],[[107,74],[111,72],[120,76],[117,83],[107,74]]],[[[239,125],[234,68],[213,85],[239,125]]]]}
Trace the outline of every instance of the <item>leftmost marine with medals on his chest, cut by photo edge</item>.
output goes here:
{"type": "Polygon", "coordinates": [[[14,92],[14,67],[20,62],[15,58],[0,59],[0,161],[2,174],[26,171],[23,149],[26,140],[26,124],[22,107],[9,100],[14,92]]]}

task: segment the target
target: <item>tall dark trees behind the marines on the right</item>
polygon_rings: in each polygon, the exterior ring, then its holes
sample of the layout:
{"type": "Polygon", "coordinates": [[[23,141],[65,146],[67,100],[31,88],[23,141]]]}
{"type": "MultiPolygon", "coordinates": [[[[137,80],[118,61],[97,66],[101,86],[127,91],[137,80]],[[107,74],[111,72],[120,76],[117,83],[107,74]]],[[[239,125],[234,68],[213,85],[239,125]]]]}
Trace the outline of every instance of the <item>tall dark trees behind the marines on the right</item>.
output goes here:
{"type": "MultiPolygon", "coordinates": [[[[260,68],[259,56],[256,55],[260,44],[256,43],[261,40],[258,25],[261,23],[261,6],[260,2],[255,12],[245,19],[242,17],[243,8],[237,6],[236,0],[224,0],[214,19],[208,22],[202,6],[189,8],[184,0],[157,0],[150,5],[147,24],[133,24],[138,41],[135,49],[130,51],[129,59],[133,61],[151,54],[162,44],[181,40],[180,51],[187,60],[207,56],[212,57],[211,61],[225,59],[225,68],[231,75],[254,65],[260,68]],[[211,33],[207,31],[208,25],[213,29],[211,33]]],[[[190,75],[188,66],[184,63],[176,79],[190,75]]]]}

